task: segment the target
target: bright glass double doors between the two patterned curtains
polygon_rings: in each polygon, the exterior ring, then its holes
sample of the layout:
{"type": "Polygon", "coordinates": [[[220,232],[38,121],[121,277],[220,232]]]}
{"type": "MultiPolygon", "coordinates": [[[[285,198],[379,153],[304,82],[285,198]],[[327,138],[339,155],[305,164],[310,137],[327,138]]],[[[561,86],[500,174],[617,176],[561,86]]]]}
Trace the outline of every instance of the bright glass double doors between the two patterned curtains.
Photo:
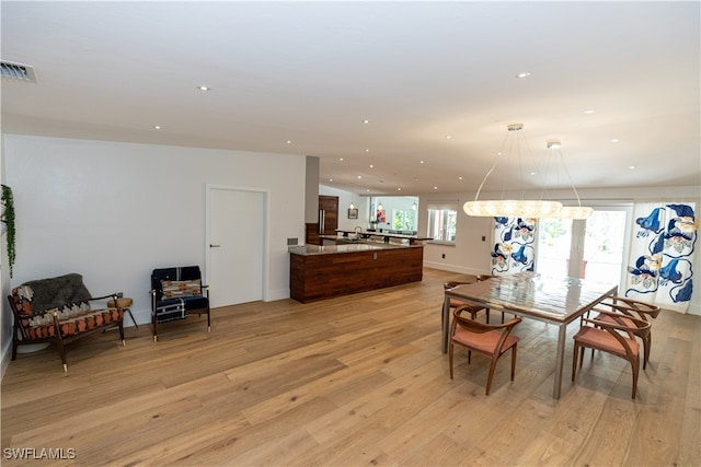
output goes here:
{"type": "Polygon", "coordinates": [[[630,208],[595,208],[586,220],[540,219],[536,270],[621,283],[630,208]]]}

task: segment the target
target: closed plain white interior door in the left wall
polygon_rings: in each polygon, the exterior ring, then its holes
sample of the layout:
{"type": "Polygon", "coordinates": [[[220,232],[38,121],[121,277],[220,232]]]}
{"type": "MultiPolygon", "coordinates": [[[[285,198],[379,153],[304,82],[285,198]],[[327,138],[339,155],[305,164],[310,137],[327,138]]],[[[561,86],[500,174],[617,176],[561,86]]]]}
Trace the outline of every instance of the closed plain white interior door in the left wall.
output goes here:
{"type": "Polygon", "coordinates": [[[210,187],[208,194],[210,305],[263,300],[266,192],[210,187]]]}

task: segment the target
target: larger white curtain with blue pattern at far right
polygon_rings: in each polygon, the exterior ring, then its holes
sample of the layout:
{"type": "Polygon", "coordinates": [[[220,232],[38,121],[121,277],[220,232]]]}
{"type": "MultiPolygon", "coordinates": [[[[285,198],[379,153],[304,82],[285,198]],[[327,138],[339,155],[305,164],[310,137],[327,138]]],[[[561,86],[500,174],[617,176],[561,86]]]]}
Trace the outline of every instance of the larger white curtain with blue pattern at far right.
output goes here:
{"type": "Polygon", "coordinates": [[[693,291],[694,203],[635,205],[624,294],[687,312],[693,291]]]}

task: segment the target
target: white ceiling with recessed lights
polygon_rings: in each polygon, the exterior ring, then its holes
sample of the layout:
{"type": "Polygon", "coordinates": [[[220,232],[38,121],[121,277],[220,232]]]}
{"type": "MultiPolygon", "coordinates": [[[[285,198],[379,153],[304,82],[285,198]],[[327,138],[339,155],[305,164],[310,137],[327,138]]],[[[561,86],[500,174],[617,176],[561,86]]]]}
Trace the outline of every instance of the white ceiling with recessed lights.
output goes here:
{"type": "Polygon", "coordinates": [[[314,155],[322,184],[410,195],[474,191],[522,122],[578,188],[693,186],[700,4],[3,0],[2,59],[37,82],[2,80],[2,126],[314,155]]]}

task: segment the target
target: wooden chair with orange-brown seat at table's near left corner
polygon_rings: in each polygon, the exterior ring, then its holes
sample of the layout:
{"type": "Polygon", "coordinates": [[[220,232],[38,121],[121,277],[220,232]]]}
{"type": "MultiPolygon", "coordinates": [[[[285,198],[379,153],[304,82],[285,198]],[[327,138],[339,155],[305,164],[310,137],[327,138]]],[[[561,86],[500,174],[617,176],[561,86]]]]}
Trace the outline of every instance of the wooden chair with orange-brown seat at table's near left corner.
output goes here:
{"type": "Polygon", "coordinates": [[[462,316],[463,312],[471,313],[468,306],[458,306],[452,313],[452,325],[450,327],[450,342],[448,347],[448,361],[450,363],[450,380],[452,380],[452,361],[455,346],[462,346],[468,349],[468,363],[472,361],[472,352],[478,352],[491,359],[490,373],[486,380],[485,394],[490,395],[494,369],[499,357],[512,349],[512,381],[516,372],[516,348],[518,336],[512,334],[514,326],[521,322],[515,317],[508,323],[499,325],[489,325],[474,320],[471,317],[462,316]]]}

